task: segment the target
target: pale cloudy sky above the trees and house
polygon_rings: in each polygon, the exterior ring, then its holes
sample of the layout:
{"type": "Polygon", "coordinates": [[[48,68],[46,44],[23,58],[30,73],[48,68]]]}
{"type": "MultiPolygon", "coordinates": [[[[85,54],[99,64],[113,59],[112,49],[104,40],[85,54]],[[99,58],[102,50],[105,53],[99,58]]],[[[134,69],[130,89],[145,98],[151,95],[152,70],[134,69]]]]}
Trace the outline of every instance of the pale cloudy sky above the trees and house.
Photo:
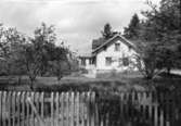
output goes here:
{"type": "MultiPolygon", "coordinates": [[[[122,32],[131,16],[147,10],[146,0],[0,0],[0,23],[33,36],[42,22],[54,25],[57,45],[88,53],[106,23],[122,32]]],[[[158,4],[159,0],[152,0],[158,4]]]]}

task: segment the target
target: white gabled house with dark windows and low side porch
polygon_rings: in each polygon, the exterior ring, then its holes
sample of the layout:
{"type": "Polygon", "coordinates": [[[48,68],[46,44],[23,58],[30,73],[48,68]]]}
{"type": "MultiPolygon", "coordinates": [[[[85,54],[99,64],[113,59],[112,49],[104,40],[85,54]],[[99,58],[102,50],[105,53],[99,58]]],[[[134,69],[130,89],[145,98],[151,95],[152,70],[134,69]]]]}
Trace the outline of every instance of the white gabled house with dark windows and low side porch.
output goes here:
{"type": "Polygon", "coordinates": [[[115,34],[93,48],[91,53],[80,55],[80,66],[101,73],[113,70],[137,71],[135,54],[138,54],[135,46],[120,34],[115,34]]]}

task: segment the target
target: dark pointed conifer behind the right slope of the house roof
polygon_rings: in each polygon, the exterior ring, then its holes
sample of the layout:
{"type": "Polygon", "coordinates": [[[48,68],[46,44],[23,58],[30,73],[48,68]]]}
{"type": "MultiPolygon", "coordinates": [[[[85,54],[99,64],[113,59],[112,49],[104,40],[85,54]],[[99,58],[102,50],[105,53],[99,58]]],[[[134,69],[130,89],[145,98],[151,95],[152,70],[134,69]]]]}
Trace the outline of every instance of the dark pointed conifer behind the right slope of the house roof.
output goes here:
{"type": "Polygon", "coordinates": [[[128,27],[125,27],[124,36],[128,39],[138,39],[140,29],[140,18],[134,14],[128,27]]]}

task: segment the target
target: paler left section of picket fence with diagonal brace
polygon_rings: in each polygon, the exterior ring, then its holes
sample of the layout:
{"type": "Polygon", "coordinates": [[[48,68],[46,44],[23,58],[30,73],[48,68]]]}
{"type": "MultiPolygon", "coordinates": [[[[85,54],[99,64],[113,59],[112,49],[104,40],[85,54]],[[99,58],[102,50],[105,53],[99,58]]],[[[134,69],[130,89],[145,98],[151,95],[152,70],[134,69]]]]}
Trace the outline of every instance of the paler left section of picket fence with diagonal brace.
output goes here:
{"type": "Polygon", "coordinates": [[[94,98],[94,92],[1,91],[1,126],[94,126],[88,109],[94,98]]]}

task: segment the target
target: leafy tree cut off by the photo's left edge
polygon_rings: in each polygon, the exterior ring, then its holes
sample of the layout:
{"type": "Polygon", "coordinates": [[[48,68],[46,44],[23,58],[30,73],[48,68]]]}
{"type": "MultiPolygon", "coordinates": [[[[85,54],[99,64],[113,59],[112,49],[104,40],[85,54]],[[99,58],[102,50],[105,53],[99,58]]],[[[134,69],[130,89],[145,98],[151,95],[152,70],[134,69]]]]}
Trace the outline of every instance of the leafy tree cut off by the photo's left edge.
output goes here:
{"type": "Polygon", "coordinates": [[[22,65],[17,65],[17,52],[22,45],[26,42],[25,36],[17,32],[16,28],[1,28],[0,38],[1,56],[5,61],[3,67],[7,74],[21,75],[22,65]]]}

